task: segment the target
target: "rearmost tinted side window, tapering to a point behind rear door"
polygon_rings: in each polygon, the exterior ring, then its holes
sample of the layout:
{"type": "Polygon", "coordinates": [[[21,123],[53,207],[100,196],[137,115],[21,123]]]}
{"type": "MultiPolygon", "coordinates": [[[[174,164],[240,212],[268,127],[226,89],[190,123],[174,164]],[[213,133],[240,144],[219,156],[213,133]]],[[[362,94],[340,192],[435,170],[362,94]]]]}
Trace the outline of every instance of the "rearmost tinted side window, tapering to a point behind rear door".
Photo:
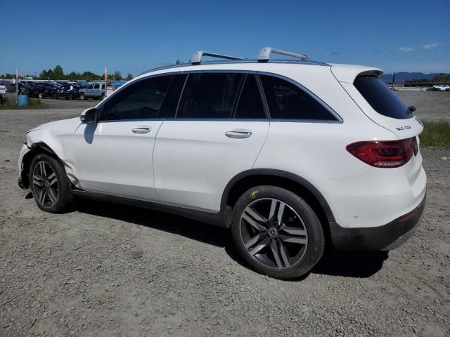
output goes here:
{"type": "Polygon", "coordinates": [[[269,75],[260,77],[271,119],[336,120],[326,107],[295,84],[269,75]]]}

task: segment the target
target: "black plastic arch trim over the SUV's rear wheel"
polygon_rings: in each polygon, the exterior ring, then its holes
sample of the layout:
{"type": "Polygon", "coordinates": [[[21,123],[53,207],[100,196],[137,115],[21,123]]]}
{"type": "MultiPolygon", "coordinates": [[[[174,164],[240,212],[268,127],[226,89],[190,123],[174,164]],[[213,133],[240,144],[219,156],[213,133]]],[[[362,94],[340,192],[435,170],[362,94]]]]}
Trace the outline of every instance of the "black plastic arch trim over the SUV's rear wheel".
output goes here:
{"type": "Polygon", "coordinates": [[[326,237],[330,237],[329,223],[335,222],[335,217],[325,197],[308,180],[287,171],[251,169],[239,173],[225,187],[221,198],[221,210],[233,207],[245,191],[259,185],[283,187],[302,197],[316,212],[326,237]]]}

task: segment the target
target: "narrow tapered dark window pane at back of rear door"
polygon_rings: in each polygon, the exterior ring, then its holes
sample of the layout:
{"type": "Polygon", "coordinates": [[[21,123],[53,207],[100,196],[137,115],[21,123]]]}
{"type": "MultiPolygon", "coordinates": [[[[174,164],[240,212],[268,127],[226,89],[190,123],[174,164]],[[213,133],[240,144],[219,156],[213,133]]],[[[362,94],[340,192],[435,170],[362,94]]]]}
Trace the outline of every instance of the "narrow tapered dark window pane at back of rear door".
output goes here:
{"type": "Polygon", "coordinates": [[[254,74],[245,77],[244,86],[240,92],[238,106],[234,118],[237,119],[266,119],[264,105],[262,105],[261,93],[257,78],[254,74]]]}

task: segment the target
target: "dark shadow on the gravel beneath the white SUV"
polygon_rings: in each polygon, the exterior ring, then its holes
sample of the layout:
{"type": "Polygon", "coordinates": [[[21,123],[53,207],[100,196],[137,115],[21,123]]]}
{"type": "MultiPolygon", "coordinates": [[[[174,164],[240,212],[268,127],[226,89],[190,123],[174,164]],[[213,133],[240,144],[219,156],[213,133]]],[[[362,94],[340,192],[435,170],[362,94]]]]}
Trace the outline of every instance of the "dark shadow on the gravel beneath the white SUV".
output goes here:
{"type": "MultiPolygon", "coordinates": [[[[250,268],[238,255],[233,246],[231,233],[225,228],[170,213],[141,209],[134,206],[111,204],[105,201],[79,197],[75,201],[73,211],[122,220],[127,223],[162,230],[205,244],[221,247],[236,263],[250,268]]],[[[330,249],[324,253],[319,263],[311,270],[311,273],[366,278],[378,272],[387,258],[388,254],[384,251],[333,251],[330,249]]],[[[308,275],[304,275],[298,281],[302,281],[302,279],[307,277],[308,275]]]]}

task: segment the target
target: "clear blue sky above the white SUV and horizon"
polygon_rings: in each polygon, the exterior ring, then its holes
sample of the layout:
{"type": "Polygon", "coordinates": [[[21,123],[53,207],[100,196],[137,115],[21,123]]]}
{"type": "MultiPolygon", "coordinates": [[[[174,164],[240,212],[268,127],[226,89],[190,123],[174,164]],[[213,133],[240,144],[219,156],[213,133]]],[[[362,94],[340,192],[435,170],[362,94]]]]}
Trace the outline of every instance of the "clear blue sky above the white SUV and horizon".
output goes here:
{"type": "Polygon", "coordinates": [[[450,1],[2,1],[0,74],[123,75],[263,46],[390,72],[450,72],[450,1]]]}

